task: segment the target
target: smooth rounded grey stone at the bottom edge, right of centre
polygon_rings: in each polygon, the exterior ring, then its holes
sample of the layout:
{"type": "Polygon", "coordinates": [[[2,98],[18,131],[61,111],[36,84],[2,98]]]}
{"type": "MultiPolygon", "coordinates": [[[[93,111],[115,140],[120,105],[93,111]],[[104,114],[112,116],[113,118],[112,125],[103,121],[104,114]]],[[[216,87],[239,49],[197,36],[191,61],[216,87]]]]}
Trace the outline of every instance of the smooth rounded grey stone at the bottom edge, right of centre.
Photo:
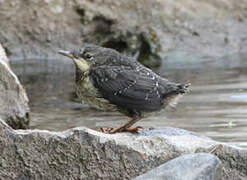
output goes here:
{"type": "Polygon", "coordinates": [[[221,180],[220,160],[207,153],[188,154],[138,176],[134,180],[221,180]]]}

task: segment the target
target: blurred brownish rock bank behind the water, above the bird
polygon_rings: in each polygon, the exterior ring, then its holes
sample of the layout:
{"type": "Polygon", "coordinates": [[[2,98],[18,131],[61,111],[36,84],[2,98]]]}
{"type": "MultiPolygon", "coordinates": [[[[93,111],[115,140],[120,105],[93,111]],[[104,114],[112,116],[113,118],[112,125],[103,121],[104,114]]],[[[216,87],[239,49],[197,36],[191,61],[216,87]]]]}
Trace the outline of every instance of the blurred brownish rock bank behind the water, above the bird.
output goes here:
{"type": "Polygon", "coordinates": [[[222,57],[247,45],[246,0],[0,1],[0,42],[12,59],[61,58],[82,42],[162,59],[222,57]]]}

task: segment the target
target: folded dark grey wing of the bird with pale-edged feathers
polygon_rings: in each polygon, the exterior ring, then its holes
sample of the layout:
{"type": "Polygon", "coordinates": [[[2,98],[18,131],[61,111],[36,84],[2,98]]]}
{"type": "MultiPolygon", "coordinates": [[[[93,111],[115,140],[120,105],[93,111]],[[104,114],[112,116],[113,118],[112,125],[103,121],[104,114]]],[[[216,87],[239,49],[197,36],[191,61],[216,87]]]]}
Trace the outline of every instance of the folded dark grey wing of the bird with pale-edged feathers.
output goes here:
{"type": "Polygon", "coordinates": [[[102,96],[119,107],[154,111],[163,105],[157,77],[146,68],[101,66],[91,69],[90,74],[102,96]]]}

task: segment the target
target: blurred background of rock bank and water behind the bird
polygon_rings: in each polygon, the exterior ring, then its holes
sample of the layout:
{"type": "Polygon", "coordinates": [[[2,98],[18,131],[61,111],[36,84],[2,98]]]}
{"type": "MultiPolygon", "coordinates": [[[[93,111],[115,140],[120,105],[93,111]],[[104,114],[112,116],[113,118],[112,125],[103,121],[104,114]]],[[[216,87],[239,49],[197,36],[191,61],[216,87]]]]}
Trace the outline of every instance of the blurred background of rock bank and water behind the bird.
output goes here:
{"type": "Polygon", "coordinates": [[[57,51],[92,43],[192,84],[176,109],[138,125],[184,128],[247,147],[247,0],[0,0],[0,43],[27,90],[31,128],[127,120],[77,100],[72,61],[57,51]]]}

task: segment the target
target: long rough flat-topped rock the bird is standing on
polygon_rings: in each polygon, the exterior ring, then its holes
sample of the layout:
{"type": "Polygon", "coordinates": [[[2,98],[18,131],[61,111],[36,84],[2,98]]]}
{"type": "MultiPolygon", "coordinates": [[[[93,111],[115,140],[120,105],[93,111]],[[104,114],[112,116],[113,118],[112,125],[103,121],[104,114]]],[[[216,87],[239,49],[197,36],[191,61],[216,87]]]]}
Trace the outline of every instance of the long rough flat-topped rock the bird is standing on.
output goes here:
{"type": "Polygon", "coordinates": [[[219,157],[222,179],[247,178],[247,150],[177,128],[148,132],[13,130],[0,121],[0,179],[133,179],[196,152],[219,157]]]}

